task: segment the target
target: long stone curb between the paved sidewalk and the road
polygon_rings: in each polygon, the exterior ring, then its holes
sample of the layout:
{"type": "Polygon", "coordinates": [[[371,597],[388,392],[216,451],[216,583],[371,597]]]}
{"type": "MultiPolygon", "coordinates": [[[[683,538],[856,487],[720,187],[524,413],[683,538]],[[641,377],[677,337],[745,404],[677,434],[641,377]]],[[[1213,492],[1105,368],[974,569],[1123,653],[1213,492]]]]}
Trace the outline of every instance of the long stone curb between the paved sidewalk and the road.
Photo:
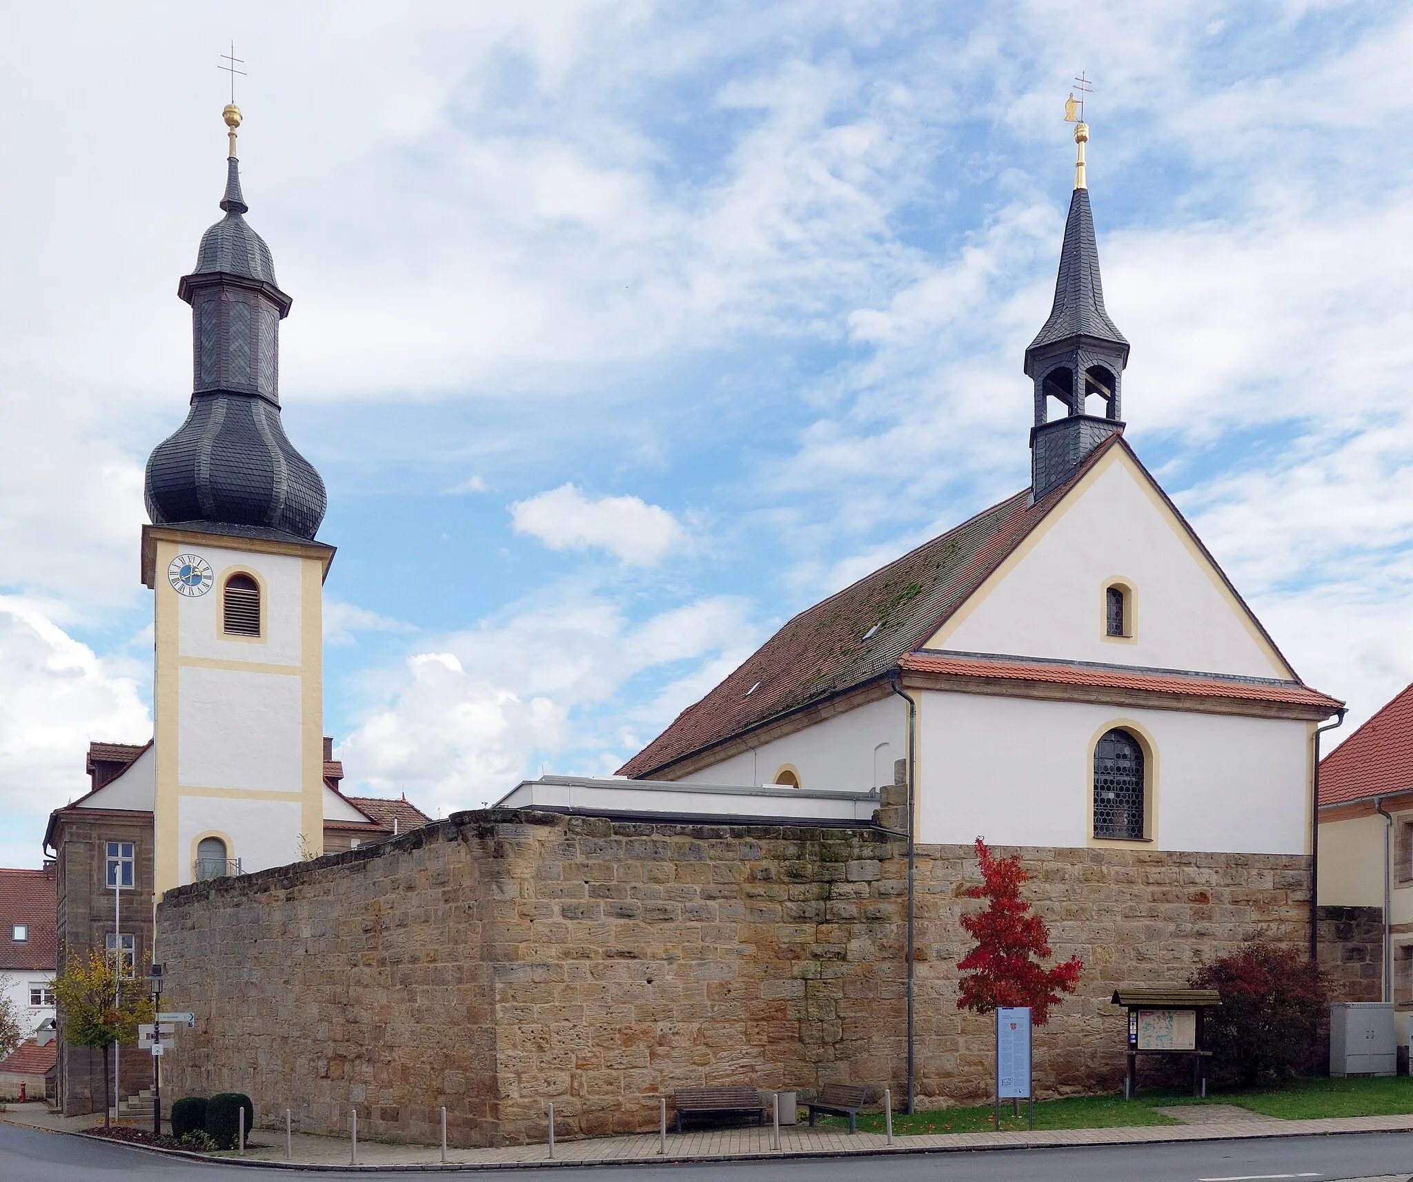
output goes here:
{"type": "MultiPolygon", "coordinates": [[[[122,1145],[127,1149],[137,1149],[147,1154],[160,1154],[164,1157],[181,1158],[185,1161],[206,1162],[211,1165],[237,1165],[237,1166],[256,1166],[261,1169],[290,1169],[290,1171],[305,1171],[305,1172],[373,1172],[382,1171],[386,1174],[444,1174],[449,1171],[506,1171],[506,1169],[596,1169],[596,1168],[613,1168],[622,1169],[625,1166],[654,1166],[654,1165],[706,1165],[711,1162],[749,1162],[749,1161],[818,1161],[818,1159],[835,1159],[835,1158],[880,1158],[880,1157],[918,1157],[926,1154],[989,1154],[989,1152],[1006,1152],[1012,1149],[1101,1149],[1115,1145],[1123,1147],[1139,1147],[1139,1145],[1176,1145],[1176,1144],[1194,1144],[1204,1141],[1267,1141],[1272,1138],[1293,1138],[1293,1137],[1379,1137],[1388,1134],[1406,1134],[1413,1130],[1409,1128],[1361,1128],[1361,1130],[1331,1130],[1331,1131],[1311,1131],[1311,1133],[1284,1133],[1273,1130],[1269,1133],[1222,1133],[1210,1137],[1152,1137],[1142,1141],[1129,1140],[1112,1140],[1112,1141],[1085,1141],[1082,1144],[1054,1144],[1048,1141],[1012,1141],[1005,1145],[892,1145],[892,1147],[877,1147],[869,1149],[798,1149],[798,1151],[774,1151],[774,1152],[749,1152],[749,1154],[684,1154],[678,1157],[658,1157],[653,1155],[649,1158],[603,1158],[598,1161],[565,1161],[564,1158],[544,1159],[544,1161],[520,1161],[520,1162],[425,1162],[425,1164],[369,1164],[369,1165],[324,1165],[315,1162],[284,1162],[284,1161],[259,1161],[254,1158],[223,1158],[213,1157],[211,1154],[198,1154],[191,1149],[167,1149],[158,1145],[141,1145],[134,1141],[117,1141],[112,1137],[100,1137],[93,1133],[81,1133],[78,1130],[64,1130],[64,1128],[40,1128],[32,1124],[21,1124],[20,1121],[7,1121],[0,1118],[0,1124],[8,1124],[16,1128],[32,1128],[37,1133],[55,1133],[61,1137],[82,1137],[85,1141],[100,1141],[105,1145],[122,1145]]],[[[1191,1125],[1188,1125],[1191,1127],[1191,1125]]],[[[1413,1178],[1409,1179],[1413,1182],[1413,1178]]]]}

